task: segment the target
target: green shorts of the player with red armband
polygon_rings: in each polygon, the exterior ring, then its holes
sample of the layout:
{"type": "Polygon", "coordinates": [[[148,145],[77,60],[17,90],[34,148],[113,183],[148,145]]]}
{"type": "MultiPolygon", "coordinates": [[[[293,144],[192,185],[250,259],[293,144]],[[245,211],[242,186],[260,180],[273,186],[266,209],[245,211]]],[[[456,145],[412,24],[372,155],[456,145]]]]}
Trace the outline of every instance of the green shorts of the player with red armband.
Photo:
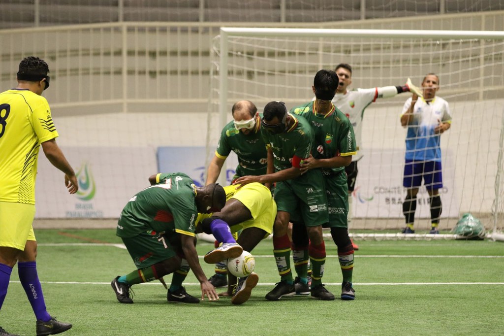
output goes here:
{"type": "Polygon", "coordinates": [[[326,188],[318,169],[293,180],[277,182],[275,201],[278,211],[289,212],[291,220],[302,221],[307,227],[329,222],[326,188]]]}

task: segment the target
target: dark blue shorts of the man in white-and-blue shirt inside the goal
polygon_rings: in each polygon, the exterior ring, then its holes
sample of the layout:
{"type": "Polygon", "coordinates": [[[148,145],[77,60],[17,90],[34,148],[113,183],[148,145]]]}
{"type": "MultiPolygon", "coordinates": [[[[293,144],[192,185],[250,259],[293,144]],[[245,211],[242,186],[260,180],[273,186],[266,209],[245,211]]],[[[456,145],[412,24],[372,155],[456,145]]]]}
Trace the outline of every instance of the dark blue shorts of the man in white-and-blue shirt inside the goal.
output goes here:
{"type": "Polygon", "coordinates": [[[413,161],[406,160],[404,165],[403,186],[406,189],[419,188],[422,178],[427,190],[443,188],[440,161],[413,161]]]}

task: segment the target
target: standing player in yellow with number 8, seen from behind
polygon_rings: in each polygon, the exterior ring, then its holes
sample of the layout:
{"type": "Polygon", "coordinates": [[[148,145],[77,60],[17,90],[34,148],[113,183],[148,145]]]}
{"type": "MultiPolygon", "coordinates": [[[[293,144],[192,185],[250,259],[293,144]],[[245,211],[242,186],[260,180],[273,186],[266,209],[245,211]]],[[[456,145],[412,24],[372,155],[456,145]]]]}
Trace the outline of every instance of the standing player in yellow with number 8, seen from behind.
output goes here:
{"type": "MultiPolygon", "coordinates": [[[[27,57],[19,64],[18,86],[0,93],[0,309],[18,263],[21,285],[37,318],[37,336],[72,327],[47,312],[37,274],[32,222],[40,146],[49,162],[65,173],[68,191],[74,194],[79,189],[72,166],[54,140],[58,133],[49,104],[42,97],[49,87],[48,73],[47,63],[27,57]]],[[[5,335],[10,333],[0,327],[0,336],[5,335]]]]}

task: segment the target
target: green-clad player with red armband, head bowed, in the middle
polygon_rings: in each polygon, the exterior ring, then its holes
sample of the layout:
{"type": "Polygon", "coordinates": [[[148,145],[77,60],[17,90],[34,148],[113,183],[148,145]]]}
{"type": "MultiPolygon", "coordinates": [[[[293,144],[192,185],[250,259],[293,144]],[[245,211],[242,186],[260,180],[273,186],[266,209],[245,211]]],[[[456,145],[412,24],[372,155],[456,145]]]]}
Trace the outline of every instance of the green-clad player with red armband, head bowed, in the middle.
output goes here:
{"type": "Polygon", "coordinates": [[[313,131],[304,118],[288,113],[284,103],[272,101],[264,108],[261,132],[268,146],[269,174],[244,176],[235,184],[276,182],[274,198],[278,212],[273,226],[273,253],[281,281],[266,299],[273,301],[296,294],[290,266],[291,243],[287,235],[291,220],[294,226],[298,221],[306,223],[304,235],[311,241],[308,251],[312,264],[311,296],[334,300],[334,295],[322,285],[326,261],[322,225],[329,221],[322,171],[310,170],[301,175],[300,170],[301,161],[310,156],[313,131]]]}

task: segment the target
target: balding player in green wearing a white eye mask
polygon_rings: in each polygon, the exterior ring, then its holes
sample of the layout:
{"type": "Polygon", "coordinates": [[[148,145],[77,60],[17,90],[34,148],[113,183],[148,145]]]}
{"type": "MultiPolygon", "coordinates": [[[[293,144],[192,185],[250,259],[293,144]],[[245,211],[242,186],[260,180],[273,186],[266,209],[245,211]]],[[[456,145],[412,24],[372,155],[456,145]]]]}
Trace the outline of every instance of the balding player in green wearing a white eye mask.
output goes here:
{"type": "MultiPolygon", "coordinates": [[[[249,100],[237,101],[231,108],[231,114],[233,121],[221,131],[215,155],[208,166],[206,184],[217,182],[224,162],[231,152],[238,157],[238,165],[231,181],[240,176],[266,174],[268,154],[261,136],[261,117],[256,105],[249,100]]],[[[227,286],[226,274],[226,263],[218,262],[210,282],[215,287],[227,286]]]]}

